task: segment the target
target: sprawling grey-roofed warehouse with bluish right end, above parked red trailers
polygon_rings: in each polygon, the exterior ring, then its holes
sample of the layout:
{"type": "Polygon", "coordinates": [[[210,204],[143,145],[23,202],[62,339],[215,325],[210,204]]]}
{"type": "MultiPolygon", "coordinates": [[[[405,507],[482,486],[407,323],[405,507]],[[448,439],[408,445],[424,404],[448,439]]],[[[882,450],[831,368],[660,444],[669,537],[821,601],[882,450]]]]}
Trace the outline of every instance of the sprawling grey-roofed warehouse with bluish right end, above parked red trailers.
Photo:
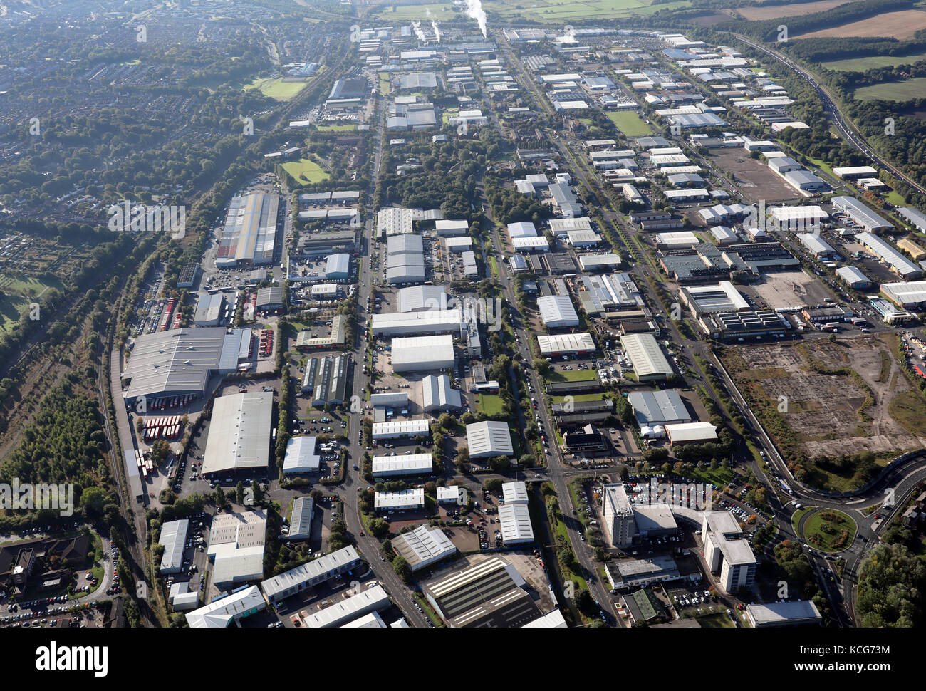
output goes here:
{"type": "Polygon", "coordinates": [[[169,329],[138,335],[131,346],[129,361],[122,371],[126,401],[145,396],[202,396],[213,374],[238,369],[240,359],[248,357],[250,329],[224,327],[169,329]]]}

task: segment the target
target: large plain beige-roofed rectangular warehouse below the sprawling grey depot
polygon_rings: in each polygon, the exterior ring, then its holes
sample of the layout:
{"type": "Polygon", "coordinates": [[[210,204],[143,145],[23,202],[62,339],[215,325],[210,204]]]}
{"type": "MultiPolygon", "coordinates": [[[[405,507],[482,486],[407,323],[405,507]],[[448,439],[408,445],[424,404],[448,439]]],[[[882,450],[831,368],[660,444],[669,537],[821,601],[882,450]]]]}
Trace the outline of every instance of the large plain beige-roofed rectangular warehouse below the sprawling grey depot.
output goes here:
{"type": "Polygon", "coordinates": [[[270,459],[272,412],[272,393],[251,392],[216,398],[202,474],[266,470],[270,459]]]}

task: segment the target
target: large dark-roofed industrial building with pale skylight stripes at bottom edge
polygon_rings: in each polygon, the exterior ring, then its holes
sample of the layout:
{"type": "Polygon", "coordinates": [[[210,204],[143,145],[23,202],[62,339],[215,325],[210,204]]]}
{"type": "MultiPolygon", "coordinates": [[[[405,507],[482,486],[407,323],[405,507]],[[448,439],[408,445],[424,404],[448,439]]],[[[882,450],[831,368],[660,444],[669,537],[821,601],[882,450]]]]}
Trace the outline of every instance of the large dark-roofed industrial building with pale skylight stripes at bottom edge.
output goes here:
{"type": "Polygon", "coordinates": [[[489,557],[422,590],[450,628],[514,628],[541,615],[525,584],[514,566],[489,557]]]}

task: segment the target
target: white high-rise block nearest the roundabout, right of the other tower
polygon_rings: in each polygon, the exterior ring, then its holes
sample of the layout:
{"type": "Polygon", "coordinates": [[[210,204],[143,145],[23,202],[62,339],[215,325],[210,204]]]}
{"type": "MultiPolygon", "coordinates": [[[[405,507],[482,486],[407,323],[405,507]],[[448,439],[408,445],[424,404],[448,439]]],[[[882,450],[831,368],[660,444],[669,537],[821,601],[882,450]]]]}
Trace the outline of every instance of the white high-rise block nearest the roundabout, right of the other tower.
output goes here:
{"type": "Polygon", "coordinates": [[[701,525],[704,559],[727,593],[756,581],[757,560],[740,524],[730,511],[707,511],[701,525]]]}

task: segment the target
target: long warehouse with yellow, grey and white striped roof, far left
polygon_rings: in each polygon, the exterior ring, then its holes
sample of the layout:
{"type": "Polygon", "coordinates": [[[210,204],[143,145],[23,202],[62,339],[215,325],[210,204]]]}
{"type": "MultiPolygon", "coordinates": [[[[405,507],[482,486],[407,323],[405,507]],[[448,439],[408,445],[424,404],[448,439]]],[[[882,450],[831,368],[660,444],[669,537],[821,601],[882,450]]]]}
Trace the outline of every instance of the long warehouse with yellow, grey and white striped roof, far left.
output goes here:
{"type": "Polygon", "coordinates": [[[273,261],[279,207],[279,195],[233,197],[219,236],[216,266],[228,269],[238,264],[273,261]]]}

